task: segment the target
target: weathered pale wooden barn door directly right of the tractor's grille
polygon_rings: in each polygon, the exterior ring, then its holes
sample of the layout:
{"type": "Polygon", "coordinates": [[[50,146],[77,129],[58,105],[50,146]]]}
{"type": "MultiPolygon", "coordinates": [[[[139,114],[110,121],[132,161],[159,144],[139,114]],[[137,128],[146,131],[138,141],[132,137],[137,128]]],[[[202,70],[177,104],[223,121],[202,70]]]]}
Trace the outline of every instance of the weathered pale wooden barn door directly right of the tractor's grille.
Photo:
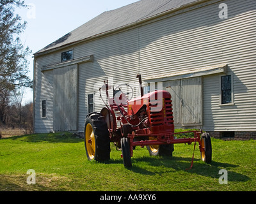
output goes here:
{"type": "Polygon", "coordinates": [[[202,126],[202,77],[163,83],[172,94],[175,126],[202,126]]]}

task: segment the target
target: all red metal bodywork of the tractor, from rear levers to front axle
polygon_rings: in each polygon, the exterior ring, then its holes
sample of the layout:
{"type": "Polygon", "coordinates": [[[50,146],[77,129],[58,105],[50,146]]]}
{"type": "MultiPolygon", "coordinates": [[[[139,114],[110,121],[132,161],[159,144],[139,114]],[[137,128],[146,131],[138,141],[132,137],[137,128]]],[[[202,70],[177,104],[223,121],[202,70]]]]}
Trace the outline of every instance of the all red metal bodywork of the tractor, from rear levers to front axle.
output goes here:
{"type": "MultiPolygon", "coordinates": [[[[110,87],[108,82],[105,82],[105,89],[109,98],[108,89],[110,87]]],[[[131,99],[126,104],[120,105],[116,105],[113,98],[109,99],[109,101],[111,103],[106,105],[108,113],[103,115],[105,119],[111,121],[108,124],[110,141],[120,143],[120,138],[124,137],[122,127],[125,124],[131,125],[131,133],[126,135],[130,141],[131,156],[133,156],[133,147],[136,146],[145,147],[175,143],[188,143],[190,145],[193,142],[198,142],[200,152],[204,152],[200,137],[202,131],[183,132],[194,133],[193,138],[175,138],[177,133],[174,133],[172,96],[170,92],[154,91],[145,95],[141,93],[141,97],[131,99]],[[116,113],[119,113],[119,115],[116,115],[116,113]],[[120,128],[118,128],[117,124],[120,124],[120,128]]]]}

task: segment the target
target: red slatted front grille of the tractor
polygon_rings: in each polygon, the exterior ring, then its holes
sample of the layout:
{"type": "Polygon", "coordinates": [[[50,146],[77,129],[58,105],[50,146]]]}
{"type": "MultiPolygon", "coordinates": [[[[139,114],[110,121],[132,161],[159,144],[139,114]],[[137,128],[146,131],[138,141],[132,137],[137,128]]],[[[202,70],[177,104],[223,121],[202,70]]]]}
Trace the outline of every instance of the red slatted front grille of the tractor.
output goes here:
{"type": "Polygon", "coordinates": [[[157,100],[157,105],[156,105],[156,102],[149,103],[151,126],[154,127],[154,126],[173,125],[174,121],[173,121],[172,100],[170,98],[157,100]],[[163,103],[163,106],[157,106],[159,103],[163,103]],[[157,110],[157,109],[161,109],[161,110],[157,110]]]}

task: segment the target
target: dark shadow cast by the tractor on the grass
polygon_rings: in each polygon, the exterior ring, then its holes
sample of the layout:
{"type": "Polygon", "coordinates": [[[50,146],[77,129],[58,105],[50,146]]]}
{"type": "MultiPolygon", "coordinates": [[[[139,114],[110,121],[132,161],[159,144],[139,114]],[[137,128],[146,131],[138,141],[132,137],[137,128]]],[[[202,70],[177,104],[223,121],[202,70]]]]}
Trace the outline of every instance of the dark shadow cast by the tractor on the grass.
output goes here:
{"type": "MultiPolygon", "coordinates": [[[[111,159],[109,164],[120,163],[120,159],[111,159]]],[[[191,165],[191,157],[140,157],[132,158],[132,167],[130,171],[140,173],[143,175],[159,175],[163,173],[170,173],[175,171],[184,171],[187,173],[194,173],[204,177],[211,177],[212,179],[219,179],[219,171],[221,169],[230,169],[239,167],[238,165],[229,163],[220,163],[212,161],[211,164],[205,164],[200,159],[194,159],[193,168],[187,170],[191,165]]],[[[251,180],[250,177],[228,170],[228,181],[230,182],[246,182],[251,180]]]]}

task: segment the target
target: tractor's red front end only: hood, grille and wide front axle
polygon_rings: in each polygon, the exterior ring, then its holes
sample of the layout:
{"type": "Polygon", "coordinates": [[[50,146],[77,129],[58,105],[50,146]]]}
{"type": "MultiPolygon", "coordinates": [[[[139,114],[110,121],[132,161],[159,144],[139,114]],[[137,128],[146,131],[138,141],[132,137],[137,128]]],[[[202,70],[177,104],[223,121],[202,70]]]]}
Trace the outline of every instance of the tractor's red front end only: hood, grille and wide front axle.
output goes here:
{"type": "MultiPolygon", "coordinates": [[[[174,133],[174,120],[173,120],[173,108],[172,108],[172,96],[170,92],[167,91],[156,91],[149,94],[145,94],[142,98],[136,98],[128,103],[128,115],[136,114],[142,106],[147,106],[147,115],[149,115],[150,128],[138,129],[134,131],[134,134],[129,134],[128,138],[130,139],[131,145],[131,156],[133,148],[135,146],[149,146],[149,145],[166,145],[166,144],[175,144],[175,143],[188,143],[189,145],[193,142],[199,143],[200,151],[203,151],[201,148],[201,138],[202,131],[186,131],[182,133],[194,133],[194,138],[182,138],[175,139],[174,133]],[[160,98],[157,98],[161,96],[160,98]],[[152,104],[150,99],[154,100],[154,106],[156,103],[159,105],[161,103],[161,110],[159,112],[152,111],[152,104]],[[148,136],[151,140],[141,140],[140,142],[134,142],[134,138],[140,136],[148,136]],[[154,140],[152,140],[154,138],[154,140]]],[[[179,134],[182,134],[179,133],[179,134]]]]}

